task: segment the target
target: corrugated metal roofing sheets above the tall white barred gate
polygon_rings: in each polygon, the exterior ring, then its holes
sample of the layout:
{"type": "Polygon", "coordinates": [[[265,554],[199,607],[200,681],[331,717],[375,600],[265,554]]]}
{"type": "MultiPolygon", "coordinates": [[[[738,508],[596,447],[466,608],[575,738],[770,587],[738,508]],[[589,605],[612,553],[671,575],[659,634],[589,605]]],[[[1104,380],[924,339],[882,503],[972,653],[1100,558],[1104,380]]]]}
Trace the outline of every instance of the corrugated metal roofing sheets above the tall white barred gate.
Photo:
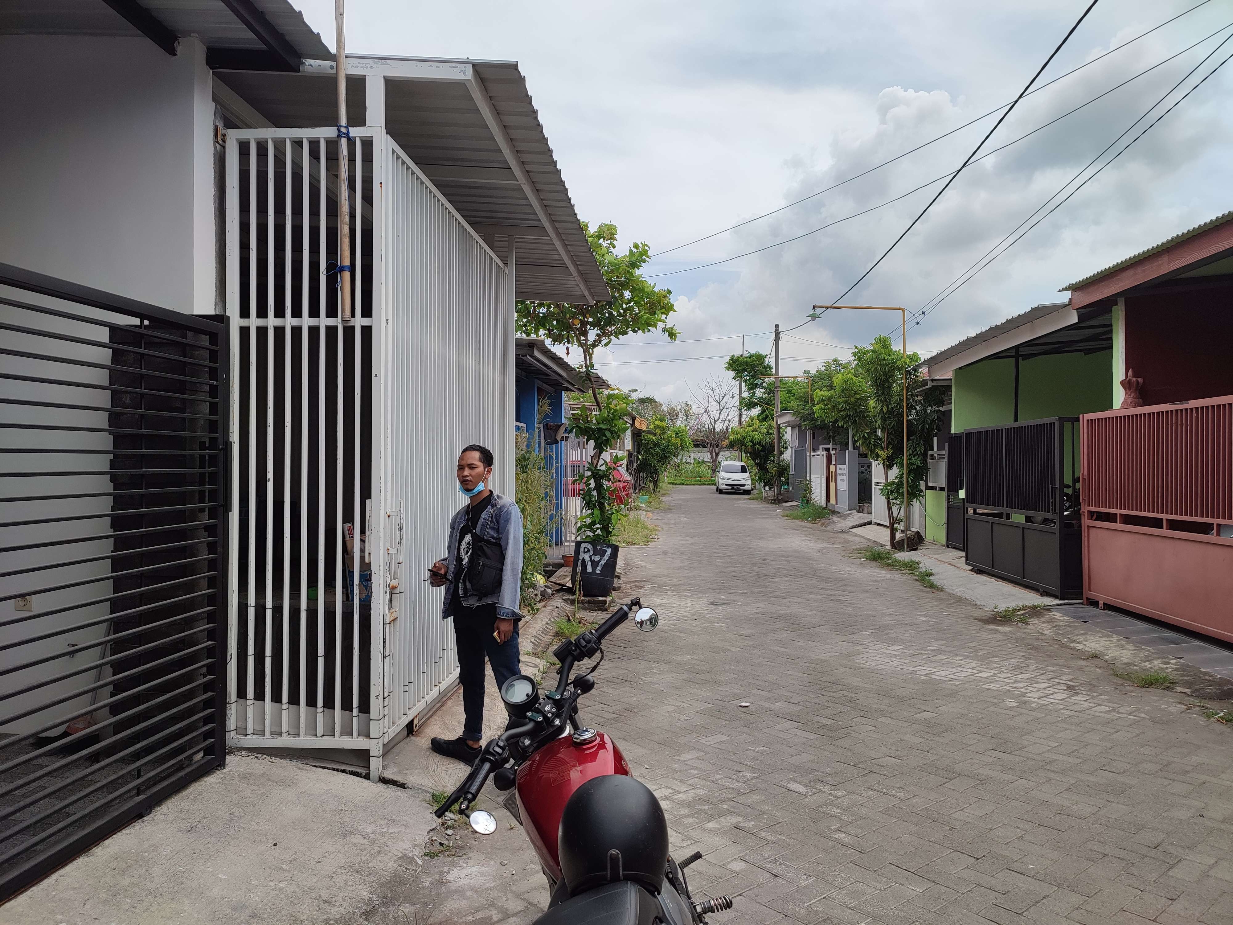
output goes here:
{"type": "MultiPolygon", "coordinates": [[[[361,60],[369,56],[354,56],[361,60]]],[[[349,56],[349,60],[353,56],[349,56]]],[[[567,253],[597,301],[609,297],[603,274],[575,210],[565,178],[549,146],[526,81],[514,62],[466,62],[475,68],[526,169],[567,253]]],[[[328,74],[276,72],[216,72],[215,79],[234,90],[279,127],[330,126],[335,122],[334,78],[328,74]]],[[[364,78],[348,74],[348,116],[364,125],[364,78]]],[[[466,84],[451,80],[387,80],[386,130],[416,162],[441,195],[491,243],[487,228],[525,228],[517,247],[518,298],[587,302],[556,245],[544,232],[526,194],[466,84]],[[465,169],[462,169],[465,168],[465,169]],[[483,174],[476,179],[478,169],[483,174]],[[470,174],[470,175],[469,175],[470,174]],[[487,228],[486,228],[487,227],[487,228]],[[535,234],[539,237],[535,237],[535,234]]],[[[504,244],[494,248],[503,253],[504,244]]]]}

